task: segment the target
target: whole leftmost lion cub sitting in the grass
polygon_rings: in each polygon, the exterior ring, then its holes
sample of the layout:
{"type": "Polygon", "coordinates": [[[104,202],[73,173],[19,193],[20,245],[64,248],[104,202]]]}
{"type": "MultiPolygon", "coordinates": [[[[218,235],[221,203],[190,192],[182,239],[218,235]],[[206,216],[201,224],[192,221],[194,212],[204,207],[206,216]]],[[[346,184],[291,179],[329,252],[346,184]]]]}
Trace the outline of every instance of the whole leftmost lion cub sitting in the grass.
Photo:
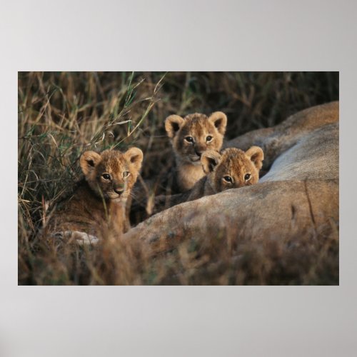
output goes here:
{"type": "Polygon", "coordinates": [[[79,243],[96,243],[108,229],[123,233],[129,228],[126,200],[141,169],[143,152],[131,148],[125,153],[86,151],[80,159],[84,179],[73,195],[62,202],[51,217],[52,236],[74,238],[79,243]]]}

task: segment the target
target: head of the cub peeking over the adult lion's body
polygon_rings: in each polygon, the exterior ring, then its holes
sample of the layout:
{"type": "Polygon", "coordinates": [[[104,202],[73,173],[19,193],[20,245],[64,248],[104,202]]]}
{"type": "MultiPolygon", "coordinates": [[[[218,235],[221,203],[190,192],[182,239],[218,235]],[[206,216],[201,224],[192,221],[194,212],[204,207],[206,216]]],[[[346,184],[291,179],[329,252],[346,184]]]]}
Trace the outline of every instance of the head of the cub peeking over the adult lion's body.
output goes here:
{"type": "Polygon", "coordinates": [[[211,186],[216,192],[221,192],[257,183],[263,159],[263,150],[252,146],[245,152],[236,148],[225,149],[221,154],[206,151],[201,157],[201,164],[211,186]]]}

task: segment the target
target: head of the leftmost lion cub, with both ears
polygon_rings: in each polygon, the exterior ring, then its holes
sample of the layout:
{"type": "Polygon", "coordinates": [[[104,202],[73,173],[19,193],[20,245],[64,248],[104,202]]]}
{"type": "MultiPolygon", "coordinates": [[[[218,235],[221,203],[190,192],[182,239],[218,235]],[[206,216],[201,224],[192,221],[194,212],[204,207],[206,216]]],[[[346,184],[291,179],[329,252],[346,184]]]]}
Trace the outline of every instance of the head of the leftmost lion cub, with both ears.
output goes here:
{"type": "Polygon", "coordinates": [[[80,159],[86,181],[97,196],[120,200],[129,196],[138,177],[143,152],[131,148],[125,153],[106,150],[101,154],[86,151],[80,159]]]}

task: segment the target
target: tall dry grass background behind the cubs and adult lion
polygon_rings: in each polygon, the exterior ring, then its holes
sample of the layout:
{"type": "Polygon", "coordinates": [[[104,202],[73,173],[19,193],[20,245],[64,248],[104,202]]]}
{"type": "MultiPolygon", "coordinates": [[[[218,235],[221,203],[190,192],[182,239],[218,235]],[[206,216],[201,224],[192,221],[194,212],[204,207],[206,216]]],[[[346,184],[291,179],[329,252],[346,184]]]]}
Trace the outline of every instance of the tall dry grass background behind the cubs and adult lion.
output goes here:
{"type": "Polygon", "coordinates": [[[170,114],[223,111],[232,139],[338,100],[338,90],[338,72],[19,72],[19,283],[48,281],[34,237],[79,178],[83,151],[139,146],[150,179],[172,159],[170,114]]]}

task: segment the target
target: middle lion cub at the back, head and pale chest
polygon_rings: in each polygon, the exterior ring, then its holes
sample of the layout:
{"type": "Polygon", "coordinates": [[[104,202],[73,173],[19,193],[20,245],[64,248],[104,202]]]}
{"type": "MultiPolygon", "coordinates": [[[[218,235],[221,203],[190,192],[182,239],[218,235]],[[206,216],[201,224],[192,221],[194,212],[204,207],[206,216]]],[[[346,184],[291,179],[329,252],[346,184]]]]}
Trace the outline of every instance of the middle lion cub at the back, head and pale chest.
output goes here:
{"type": "Polygon", "coordinates": [[[165,129],[174,148],[180,192],[188,191],[205,176],[201,156],[206,150],[221,149],[226,125],[226,114],[221,111],[211,116],[195,113],[184,118],[178,115],[166,118],[165,129]]]}

